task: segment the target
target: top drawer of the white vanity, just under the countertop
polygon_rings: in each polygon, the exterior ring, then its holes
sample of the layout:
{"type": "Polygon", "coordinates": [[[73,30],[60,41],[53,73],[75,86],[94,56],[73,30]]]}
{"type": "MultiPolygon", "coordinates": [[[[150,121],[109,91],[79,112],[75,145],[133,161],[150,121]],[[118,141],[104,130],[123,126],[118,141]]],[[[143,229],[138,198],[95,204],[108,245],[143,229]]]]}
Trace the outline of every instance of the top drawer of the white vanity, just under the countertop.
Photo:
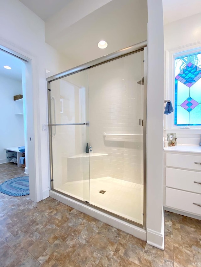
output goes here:
{"type": "Polygon", "coordinates": [[[179,155],[167,153],[166,155],[166,166],[185,168],[192,170],[201,171],[201,164],[195,164],[195,162],[201,163],[200,156],[191,156],[191,155],[179,155]]]}

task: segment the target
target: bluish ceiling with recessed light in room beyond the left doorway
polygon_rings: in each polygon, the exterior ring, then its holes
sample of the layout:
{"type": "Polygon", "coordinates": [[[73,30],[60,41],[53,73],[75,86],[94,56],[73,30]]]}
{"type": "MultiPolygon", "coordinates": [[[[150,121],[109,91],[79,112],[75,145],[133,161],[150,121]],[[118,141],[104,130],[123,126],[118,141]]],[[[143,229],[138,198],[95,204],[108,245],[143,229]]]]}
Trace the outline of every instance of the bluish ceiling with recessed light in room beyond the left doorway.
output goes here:
{"type": "Polygon", "coordinates": [[[22,80],[23,61],[0,50],[0,75],[14,80],[22,80]],[[12,69],[5,69],[10,66],[12,69]]]}

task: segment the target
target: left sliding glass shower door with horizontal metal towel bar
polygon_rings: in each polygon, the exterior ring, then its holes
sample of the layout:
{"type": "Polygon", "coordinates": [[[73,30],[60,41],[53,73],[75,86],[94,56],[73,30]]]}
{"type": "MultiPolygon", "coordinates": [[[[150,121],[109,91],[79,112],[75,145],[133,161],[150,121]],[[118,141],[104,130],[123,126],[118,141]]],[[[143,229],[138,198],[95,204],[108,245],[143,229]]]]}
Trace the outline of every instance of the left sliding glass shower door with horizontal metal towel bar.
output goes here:
{"type": "Polygon", "coordinates": [[[52,187],[90,202],[88,70],[51,82],[52,187]]]}

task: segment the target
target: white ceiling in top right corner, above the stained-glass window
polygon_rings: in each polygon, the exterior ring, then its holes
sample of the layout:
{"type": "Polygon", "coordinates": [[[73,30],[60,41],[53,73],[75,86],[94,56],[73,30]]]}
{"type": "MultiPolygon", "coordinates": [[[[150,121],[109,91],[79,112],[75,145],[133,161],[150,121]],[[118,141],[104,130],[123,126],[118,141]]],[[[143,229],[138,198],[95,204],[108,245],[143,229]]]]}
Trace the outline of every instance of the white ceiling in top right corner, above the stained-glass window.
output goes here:
{"type": "Polygon", "coordinates": [[[164,24],[201,13],[201,0],[163,0],[164,24]]]}

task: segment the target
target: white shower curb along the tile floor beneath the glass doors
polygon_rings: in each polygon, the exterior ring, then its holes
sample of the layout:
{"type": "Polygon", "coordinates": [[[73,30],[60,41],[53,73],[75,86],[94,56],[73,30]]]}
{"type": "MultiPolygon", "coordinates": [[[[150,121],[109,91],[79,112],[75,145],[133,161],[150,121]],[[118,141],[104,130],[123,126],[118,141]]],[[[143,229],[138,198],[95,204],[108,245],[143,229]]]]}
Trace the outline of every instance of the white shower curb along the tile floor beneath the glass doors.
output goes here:
{"type": "Polygon", "coordinates": [[[147,240],[147,233],[144,229],[137,227],[131,223],[127,223],[121,219],[118,219],[114,216],[111,216],[107,213],[104,213],[98,209],[92,208],[88,205],[85,205],[84,203],[81,203],[79,201],[76,201],[72,198],[68,198],[66,196],[63,196],[57,192],[54,192],[52,190],[49,191],[50,197],[57,199],[58,201],[75,208],[83,213],[86,213],[104,223],[107,223],[115,228],[118,228],[124,232],[127,232],[128,234],[132,234],[133,236],[142,239],[144,241],[147,240]]]}

